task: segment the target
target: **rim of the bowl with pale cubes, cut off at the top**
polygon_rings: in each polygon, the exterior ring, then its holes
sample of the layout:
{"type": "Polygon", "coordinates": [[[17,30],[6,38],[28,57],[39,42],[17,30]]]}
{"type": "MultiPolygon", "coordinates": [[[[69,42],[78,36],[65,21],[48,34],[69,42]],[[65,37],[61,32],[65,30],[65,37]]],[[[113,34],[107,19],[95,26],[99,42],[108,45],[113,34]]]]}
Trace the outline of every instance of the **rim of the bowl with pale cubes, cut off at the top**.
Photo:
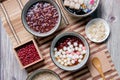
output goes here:
{"type": "Polygon", "coordinates": [[[90,14],[92,14],[97,9],[97,7],[99,6],[99,3],[100,3],[100,0],[97,1],[97,4],[96,4],[95,8],[92,11],[88,12],[87,14],[77,15],[77,14],[74,14],[74,13],[70,12],[68,9],[66,9],[66,7],[63,5],[63,0],[61,0],[61,4],[62,4],[63,8],[65,9],[65,11],[68,12],[70,15],[75,16],[75,17],[89,16],[90,14]]]}

